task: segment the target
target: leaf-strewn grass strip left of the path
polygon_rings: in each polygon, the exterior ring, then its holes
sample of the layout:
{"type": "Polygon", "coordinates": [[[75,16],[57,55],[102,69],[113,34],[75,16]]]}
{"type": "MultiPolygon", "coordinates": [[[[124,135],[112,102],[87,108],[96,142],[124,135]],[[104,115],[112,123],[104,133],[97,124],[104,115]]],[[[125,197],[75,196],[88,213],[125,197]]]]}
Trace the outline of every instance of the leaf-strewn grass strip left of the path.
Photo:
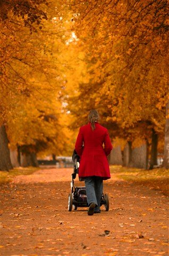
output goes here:
{"type": "Polygon", "coordinates": [[[37,171],[37,167],[18,167],[10,171],[0,171],[0,184],[9,183],[12,178],[18,175],[29,175],[37,171]]]}

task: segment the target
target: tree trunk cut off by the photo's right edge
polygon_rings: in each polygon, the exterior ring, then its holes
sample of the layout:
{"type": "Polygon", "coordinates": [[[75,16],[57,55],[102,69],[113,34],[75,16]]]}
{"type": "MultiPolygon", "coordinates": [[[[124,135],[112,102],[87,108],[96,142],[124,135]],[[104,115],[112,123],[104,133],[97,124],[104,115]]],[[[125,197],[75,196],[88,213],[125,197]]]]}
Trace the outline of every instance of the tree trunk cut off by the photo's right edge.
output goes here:
{"type": "Polygon", "coordinates": [[[165,123],[163,166],[166,169],[169,169],[169,101],[167,102],[167,105],[166,105],[166,123],[165,123]]]}

